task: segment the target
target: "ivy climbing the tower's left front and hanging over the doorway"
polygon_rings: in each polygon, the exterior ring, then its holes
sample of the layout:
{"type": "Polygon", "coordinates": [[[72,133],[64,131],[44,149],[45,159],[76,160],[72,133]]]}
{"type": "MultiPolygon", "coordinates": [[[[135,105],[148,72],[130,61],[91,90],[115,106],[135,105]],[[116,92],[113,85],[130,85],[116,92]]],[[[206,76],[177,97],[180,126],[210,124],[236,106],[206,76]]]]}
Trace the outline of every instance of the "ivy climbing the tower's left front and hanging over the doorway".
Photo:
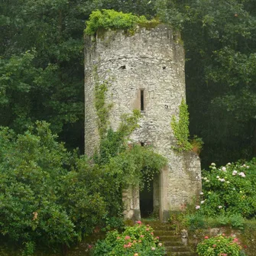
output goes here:
{"type": "Polygon", "coordinates": [[[117,131],[109,128],[109,112],[113,104],[106,104],[105,93],[108,91],[110,82],[99,79],[97,66],[94,66],[94,79],[95,107],[100,136],[99,151],[93,157],[94,163],[112,177],[115,191],[120,192],[120,196],[123,186],[136,184],[143,188],[144,184],[147,184],[149,188],[155,174],[167,164],[166,158],[156,154],[152,147],[140,147],[137,144],[128,143],[129,135],[139,127],[141,112],[138,109],[120,117],[121,122],[117,131]]]}

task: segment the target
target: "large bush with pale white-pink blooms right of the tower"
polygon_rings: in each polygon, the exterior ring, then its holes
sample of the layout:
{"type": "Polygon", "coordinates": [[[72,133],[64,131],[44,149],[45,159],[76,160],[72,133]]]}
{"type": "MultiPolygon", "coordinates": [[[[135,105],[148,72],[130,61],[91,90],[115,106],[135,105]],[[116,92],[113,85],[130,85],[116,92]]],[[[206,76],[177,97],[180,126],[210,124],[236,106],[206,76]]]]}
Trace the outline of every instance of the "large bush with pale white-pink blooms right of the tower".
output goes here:
{"type": "Polygon", "coordinates": [[[241,215],[251,218],[256,214],[256,158],[241,164],[226,164],[203,170],[203,193],[196,206],[206,216],[241,215]]]}

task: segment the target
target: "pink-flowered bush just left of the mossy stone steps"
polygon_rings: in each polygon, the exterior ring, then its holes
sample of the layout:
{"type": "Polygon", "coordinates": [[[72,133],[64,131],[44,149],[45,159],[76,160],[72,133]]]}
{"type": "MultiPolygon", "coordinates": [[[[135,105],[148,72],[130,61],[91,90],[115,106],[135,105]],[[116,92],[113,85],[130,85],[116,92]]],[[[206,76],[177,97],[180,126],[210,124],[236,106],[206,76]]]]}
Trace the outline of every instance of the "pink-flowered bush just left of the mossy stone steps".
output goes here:
{"type": "Polygon", "coordinates": [[[127,255],[153,256],[164,255],[164,245],[154,237],[153,228],[138,222],[133,227],[125,228],[125,232],[109,232],[105,240],[98,241],[93,255],[127,255]]]}

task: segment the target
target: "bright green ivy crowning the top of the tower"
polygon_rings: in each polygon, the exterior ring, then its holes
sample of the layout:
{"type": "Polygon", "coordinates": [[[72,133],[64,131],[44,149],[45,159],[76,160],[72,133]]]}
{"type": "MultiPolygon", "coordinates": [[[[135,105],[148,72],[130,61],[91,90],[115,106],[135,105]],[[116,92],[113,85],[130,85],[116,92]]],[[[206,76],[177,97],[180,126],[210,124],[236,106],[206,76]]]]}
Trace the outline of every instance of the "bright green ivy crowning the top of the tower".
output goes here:
{"type": "MultiPolygon", "coordinates": [[[[89,21],[86,21],[85,34],[96,34],[99,28],[102,29],[124,29],[133,32],[136,25],[144,28],[154,28],[160,21],[153,19],[148,21],[145,16],[136,16],[122,11],[106,10],[92,11],[89,21]]],[[[131,33],[133,34],[133,33],[131,33]]]]}

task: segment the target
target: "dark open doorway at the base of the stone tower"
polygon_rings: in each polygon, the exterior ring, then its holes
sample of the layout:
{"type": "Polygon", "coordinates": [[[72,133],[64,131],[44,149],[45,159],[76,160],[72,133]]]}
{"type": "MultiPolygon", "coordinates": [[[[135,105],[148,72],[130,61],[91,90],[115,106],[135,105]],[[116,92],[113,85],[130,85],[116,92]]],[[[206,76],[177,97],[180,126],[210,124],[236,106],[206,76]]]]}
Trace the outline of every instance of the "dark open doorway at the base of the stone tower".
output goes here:
{"type": "Polygon", "coordinates": [[[144,189],[140,191],[140,209],[141,218],[148,218],[153,214],[153,180],[150,183],[150,190],[145,185],[144,189]]]}

